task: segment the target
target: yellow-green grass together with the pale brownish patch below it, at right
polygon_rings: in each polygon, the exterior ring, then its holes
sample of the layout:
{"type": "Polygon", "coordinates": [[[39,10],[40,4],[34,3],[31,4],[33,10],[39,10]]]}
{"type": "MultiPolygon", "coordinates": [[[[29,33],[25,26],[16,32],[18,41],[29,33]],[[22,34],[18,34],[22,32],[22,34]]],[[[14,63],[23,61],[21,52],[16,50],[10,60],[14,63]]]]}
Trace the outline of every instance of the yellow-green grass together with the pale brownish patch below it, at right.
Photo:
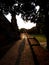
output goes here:
{"type": "Polygon", "coordinates": [[[32,37],[35,37],[39,42],[40,42],[40,45],[42,48],[44,48],[45,50],[47,49],[47,39],[45,37],[45,35],[34,35],[34,34],[31,34],[32,37]]]}

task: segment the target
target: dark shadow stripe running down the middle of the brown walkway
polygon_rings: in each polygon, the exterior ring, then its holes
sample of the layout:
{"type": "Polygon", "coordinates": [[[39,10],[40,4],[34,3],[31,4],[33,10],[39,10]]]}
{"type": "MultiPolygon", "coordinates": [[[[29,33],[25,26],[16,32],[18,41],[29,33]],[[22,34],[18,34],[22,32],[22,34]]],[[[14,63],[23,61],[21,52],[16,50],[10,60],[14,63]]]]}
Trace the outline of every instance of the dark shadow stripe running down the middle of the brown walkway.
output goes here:
{"type": "Polygon", "coordinates": [[[15,65],[19,65],[20,64],[21,55],[22,55],[22,52],[24,51],[24,47],[25,47],[25,39],[23,39],[23,41],[21,42],[21,44],[19,46],[19,49],[18,49],[18,57],[16,59],[15,65]]]}

